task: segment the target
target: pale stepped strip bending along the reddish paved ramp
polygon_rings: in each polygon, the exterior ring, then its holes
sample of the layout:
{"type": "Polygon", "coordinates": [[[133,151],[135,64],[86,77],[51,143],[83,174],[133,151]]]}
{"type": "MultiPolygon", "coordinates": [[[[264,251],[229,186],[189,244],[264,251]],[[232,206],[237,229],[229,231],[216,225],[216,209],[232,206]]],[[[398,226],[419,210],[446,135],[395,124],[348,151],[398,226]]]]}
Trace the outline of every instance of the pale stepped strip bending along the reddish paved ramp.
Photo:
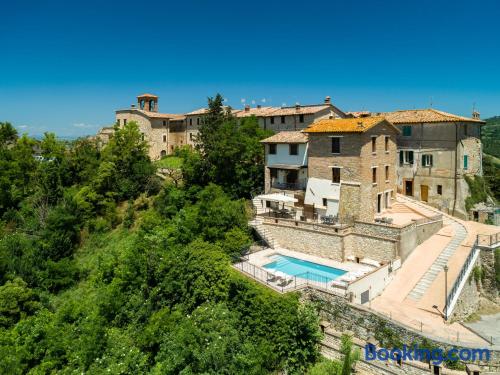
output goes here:
{"type": "MultiPolygon", "coordinates": [[[[435,214],[443,214],[438,209],[435,209],[408,197],[404,197],[404,200],[412,205],[419,206],[420,208],[425,209],[428,212],[430,211],[435,214]]],[[[412,291],[408,294],[408,298],[414,301],[418,301],[420,300],[420,298],[422,298],[422,296],[425,294],[427,289],[429,289],[438,274],[443,270],[443,267],[448,264],[449,259],[453,256],[453,254],[455,254],[455,251],[467,237],[467,231],[465,227],[454,217],[443,214],[443,224],[445,226],[451,225],[453,227],[453,237],[448,245],[446,245],[446,247],[443,249],[441,254],[439,254],[439,256],[436,258],[432,266],[424,273],[418,283],[413,287],[412,291]]]]}

